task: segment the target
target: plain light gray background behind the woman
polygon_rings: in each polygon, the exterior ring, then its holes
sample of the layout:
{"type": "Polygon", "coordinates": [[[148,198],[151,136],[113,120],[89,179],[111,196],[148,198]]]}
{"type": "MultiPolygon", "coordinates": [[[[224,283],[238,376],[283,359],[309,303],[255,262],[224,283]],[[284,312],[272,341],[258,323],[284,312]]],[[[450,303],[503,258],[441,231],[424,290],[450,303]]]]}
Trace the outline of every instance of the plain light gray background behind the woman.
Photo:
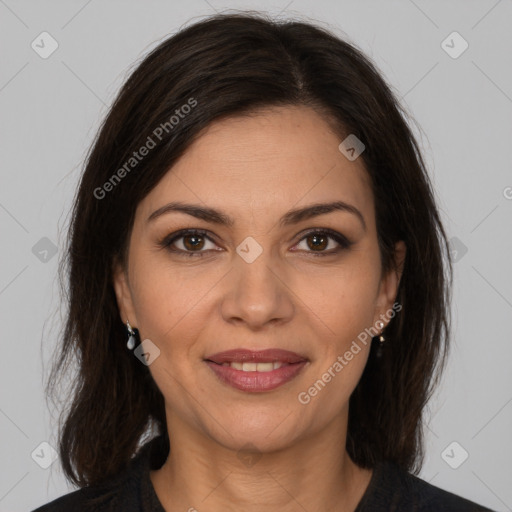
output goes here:
{"type": "MultiPolygon", "coordinates": [[[[420,476],[512,510],[510,0],[0,0],[0,511],[71,490],[58,462],[39,465],[51,461],[40,443],[56,446],[42,384],[62,321],[56,271],[86,151],[133,64],[185,23],[226,9],[310,19],[346,37],[421,126],[413,128],[458,261],[454,344],[430,402],[420,476]],[[47,59],[31,47],[43,31],[59,45],[47,59]],[[457,58],[442,46],[453,31],[469,44],[457,58]]],[[[458,52],[462,41],[451,39],[458,52]]]]}

